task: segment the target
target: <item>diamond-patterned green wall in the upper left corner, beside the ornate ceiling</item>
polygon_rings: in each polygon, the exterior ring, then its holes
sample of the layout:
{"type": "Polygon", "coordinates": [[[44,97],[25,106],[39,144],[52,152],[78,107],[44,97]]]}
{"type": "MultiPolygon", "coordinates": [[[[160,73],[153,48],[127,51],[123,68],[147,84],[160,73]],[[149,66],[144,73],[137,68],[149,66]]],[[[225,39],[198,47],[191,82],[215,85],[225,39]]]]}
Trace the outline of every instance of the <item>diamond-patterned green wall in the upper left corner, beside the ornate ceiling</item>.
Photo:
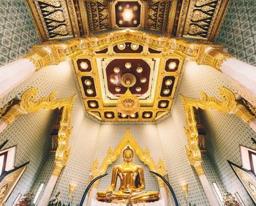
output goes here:
{"type": "Polygon", "coordinates": [[[39,43],[25,0],[0,1],[0,66],[15,61],[39,43]]]}

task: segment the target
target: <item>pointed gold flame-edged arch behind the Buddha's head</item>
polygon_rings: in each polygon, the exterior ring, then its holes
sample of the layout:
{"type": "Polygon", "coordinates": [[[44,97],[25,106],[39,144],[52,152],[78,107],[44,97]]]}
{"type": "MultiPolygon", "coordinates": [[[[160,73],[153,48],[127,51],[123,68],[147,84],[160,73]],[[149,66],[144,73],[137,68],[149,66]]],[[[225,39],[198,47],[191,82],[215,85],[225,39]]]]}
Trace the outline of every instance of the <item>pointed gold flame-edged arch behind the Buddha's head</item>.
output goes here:
{"type": "MultiPolygon", "coordinates": [[[[140,148],[138,142],[136,142],[135,138],[132,136],[131,131],[127,129],[124,134],[123,139],[121,142],[116,146],[115,150],[108,148],[107,155],[105,159],[102,161],[102,164],[99,164],[99,160],[95,159],[93,164],[91,165],[91,178],[96,178],[99,175],[103,175],[108,170],[108,166],[112,164],[118,156],[122,153],[124,148],[130,145],[134,152],[138,155],[139,159],[143,161],[144,164],[148,165],[148,168],[153,171],[157,172],[160,175],[166,175],[166,168],[165,163],[162,159],[159,159],[158,163],[154,163],[154,159],[151,157],[150,150],[146,148],[143,150],[140,148]]],[[[160,184],[161,181],[159,181],[160,184]]],[[[98,181],[99,183],[99,181],[98,181]]],[[[94,187],[97,187],[98,184],[95,184],[94,187]]],[[[161,185],[163,186],[163,184],[161,185]]]]}

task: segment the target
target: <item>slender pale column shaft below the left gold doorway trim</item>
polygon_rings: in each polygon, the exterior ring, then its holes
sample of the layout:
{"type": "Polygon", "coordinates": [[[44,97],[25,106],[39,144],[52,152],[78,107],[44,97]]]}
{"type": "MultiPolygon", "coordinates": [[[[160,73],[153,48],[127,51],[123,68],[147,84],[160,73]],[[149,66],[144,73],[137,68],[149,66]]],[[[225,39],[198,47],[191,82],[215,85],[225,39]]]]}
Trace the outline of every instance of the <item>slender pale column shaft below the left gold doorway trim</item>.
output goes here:
{"type": "Polygon", "coordinates": [[[47,186],[45,187],[45,190],[42,193],[42,197],[39,199],[38,206],[47,206],[48,202],[50,200],[50,196],[53,193],[53,188],[57,183],[58,180],[57,175],[51,175],[50,180],[47,183],[47,186]]]}

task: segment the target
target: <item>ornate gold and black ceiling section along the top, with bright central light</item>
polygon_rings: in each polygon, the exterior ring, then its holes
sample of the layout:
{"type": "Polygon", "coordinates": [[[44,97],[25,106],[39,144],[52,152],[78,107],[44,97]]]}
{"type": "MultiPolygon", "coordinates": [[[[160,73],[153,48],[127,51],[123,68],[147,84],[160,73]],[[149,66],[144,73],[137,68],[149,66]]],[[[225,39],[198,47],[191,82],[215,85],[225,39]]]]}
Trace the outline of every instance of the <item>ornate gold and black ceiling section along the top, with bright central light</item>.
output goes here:
{"type": "Polygon", "coordinates": [[[26,0],[42,41],[121,28],[213,40],[229,0],[26,0]]]}

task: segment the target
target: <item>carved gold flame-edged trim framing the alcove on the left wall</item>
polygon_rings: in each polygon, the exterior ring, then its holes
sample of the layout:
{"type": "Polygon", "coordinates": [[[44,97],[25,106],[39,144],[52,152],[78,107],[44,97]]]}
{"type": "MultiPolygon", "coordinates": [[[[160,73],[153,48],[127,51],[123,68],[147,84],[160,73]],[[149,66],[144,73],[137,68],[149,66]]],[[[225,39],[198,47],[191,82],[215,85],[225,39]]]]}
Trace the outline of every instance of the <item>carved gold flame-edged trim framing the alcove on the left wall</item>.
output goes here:
{"type": "Polygon", "coordinates": [[[39,88],[29,88],[26,90],[18,104],[13,105],[10,110],[1,117],[0,121],[6,123],[8,126],[23,114],[34,113],[41,109],[54,110],[56,108],[63,108],[58,133],[59,145],[56,150],[55,167],[53,170],[53,175],[59,176],[61,169],[66,166],[69,158],[70,149],[68,149],[68,142],[72,131],[69,125],[72,114],[72,104],[76,95],[65,99],[56,99],[56,92],[52,92],[48,97],[42,97],[37,100],[38,92],[39,88]]]}

